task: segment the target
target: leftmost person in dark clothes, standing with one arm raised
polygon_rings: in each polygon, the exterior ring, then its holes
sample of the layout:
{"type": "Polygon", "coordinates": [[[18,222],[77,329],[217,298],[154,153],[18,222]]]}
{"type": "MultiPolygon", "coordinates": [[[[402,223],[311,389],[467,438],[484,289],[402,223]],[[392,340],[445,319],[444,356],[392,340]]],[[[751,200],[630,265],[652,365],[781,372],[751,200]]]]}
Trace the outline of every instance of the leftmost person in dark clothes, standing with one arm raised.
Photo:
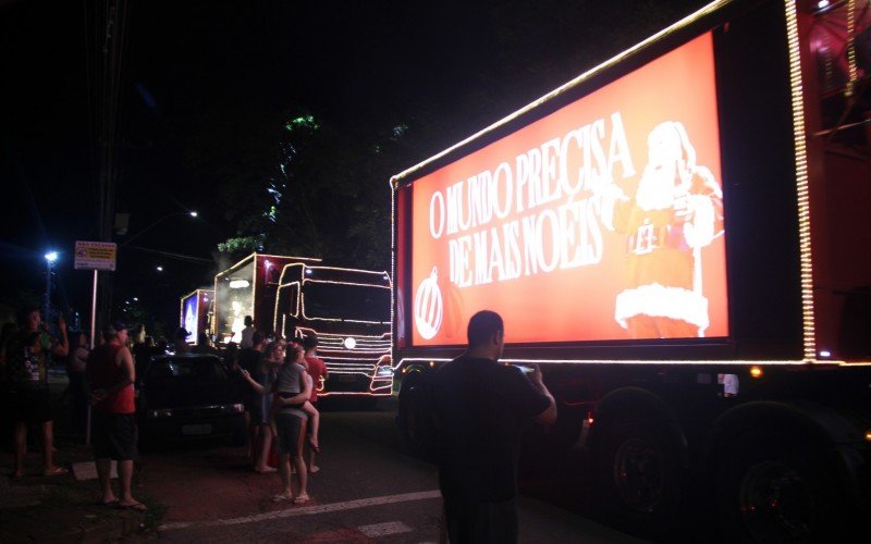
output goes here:
{"type": "Polygon", "coordinates": [[[47,368],[51,356],[65,357],[69,351],[66,322],[62,316],[58,318],[60,336],[56,338],[48,333],[37,308],[23,308],[17,320],[19,332],[7,341],[2,357],[14,422],[12,478],[24,475],[28,423],[39,423],[42,430],[42,474],[65,474],[66,469],[54,465],[54,426],[47,368]]]}

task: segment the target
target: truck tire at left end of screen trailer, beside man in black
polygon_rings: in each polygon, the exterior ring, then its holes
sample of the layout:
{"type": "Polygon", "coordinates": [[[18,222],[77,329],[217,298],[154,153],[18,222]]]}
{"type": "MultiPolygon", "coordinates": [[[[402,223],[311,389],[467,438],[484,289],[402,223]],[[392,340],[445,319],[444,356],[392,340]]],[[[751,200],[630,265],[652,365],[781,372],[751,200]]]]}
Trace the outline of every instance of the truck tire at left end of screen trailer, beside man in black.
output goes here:
{"type": "Polygon", "coordinates": [[[396,408],[396,429],[408,454],[425,459],[434,458],[436,422],[425,378],[420,373],[408,373],[403,378],[396,408]]]}

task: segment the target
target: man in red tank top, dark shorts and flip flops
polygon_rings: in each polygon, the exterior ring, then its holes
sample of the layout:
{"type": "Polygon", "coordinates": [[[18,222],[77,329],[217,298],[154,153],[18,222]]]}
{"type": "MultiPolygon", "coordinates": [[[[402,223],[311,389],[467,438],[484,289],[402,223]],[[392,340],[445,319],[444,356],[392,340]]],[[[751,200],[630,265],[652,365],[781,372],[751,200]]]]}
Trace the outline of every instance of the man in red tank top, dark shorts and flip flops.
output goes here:
{"type": "Polygon", "coordinates": [[[127,326],[112,321],[102,331],[106,342],[88,356],[86,367],[94,405],[94,457],[102,489],[102,504],[128,510],[148,508],[131,493],[136,448],[136,368],[127,348],[127,326]],[[118,461],[120,497],[112,491],[112,459],[118,461]]]}

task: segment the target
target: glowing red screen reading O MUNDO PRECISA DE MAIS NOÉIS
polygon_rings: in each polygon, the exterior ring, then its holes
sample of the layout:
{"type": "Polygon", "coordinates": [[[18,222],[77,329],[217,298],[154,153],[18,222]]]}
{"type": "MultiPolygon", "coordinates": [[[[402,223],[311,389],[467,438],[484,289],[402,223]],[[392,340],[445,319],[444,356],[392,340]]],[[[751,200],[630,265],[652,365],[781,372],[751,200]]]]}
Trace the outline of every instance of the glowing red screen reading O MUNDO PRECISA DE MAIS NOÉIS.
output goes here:
{"type": "Polygon", "coordinates": [[[414,182],[413,345],[728,335],[706,34],[414,182]]]}

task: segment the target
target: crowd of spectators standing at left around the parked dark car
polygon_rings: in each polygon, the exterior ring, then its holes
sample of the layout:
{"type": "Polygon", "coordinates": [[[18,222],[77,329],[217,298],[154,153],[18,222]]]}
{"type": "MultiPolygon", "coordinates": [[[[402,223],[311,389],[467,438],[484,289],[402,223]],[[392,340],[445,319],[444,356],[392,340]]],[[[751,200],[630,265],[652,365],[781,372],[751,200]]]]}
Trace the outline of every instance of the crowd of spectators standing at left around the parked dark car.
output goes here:
{"type": "Polygon", "coordinates": [[[218,356],[228,369],[245,406],[245,457],[256,472],[278,472],[281,478],[282,491],[273,500],[306,503],[307,475],[320,470],[315,463],[320,452],[317,390],[327,378],[327,368],[317,356],[317,337],[271,337],[258,331],[250,318],[245,324],[242,345],[217,345],[206,333],[192,345],[189,333],[182,327],[172,342],[156,341],[144,325],[128,327],[119,321],[106,325],[91,343],[82,331],[68,335],[62,318],[50,329],[37,308],[23,308],[16,323],[2,326],[0,337],[0,390],[8,400],[15,454],[11,477],[25,473],[27,431],[35,428],[41,438],[42,473],[68,472],[54,465],[52,456],[53,409],[60,405],[69,410],[74,440],[85,442],[87,429],[91,429],[102,503],[144,510],[130,487],[138,458],[136,379],[144,375],[154,356],[193,353],[218,356]],[[65,368],[69,378],[68,387],[54,401],[49,390],[50,368],[65,368]],[[118,494],[110,486],[111,460],[119,467],[118,494]]]}

